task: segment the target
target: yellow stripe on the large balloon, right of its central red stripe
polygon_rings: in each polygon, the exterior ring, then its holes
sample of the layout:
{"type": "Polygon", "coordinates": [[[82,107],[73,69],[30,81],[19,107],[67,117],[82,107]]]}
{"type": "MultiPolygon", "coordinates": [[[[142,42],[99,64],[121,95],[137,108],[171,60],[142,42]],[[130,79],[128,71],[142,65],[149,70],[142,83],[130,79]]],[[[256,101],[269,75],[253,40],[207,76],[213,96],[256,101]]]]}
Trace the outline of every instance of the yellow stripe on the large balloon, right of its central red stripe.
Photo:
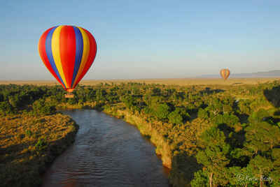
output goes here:
{"type": "Polygon", "coordinates": [[[90,53],[90,39],[87,36],[87,33],[80,27],[78,27],[80,30],[80,33],[82,33],[83,36],[83,56],[82,60],[80,61],[80,68],[78,69],[78,73],[76,75],[74,84],[76,84],[78,77],[80,77],[80,74],[83,72],[83,68],[85,68],[85,63],[87,63],[88,54],[90,53]]]}

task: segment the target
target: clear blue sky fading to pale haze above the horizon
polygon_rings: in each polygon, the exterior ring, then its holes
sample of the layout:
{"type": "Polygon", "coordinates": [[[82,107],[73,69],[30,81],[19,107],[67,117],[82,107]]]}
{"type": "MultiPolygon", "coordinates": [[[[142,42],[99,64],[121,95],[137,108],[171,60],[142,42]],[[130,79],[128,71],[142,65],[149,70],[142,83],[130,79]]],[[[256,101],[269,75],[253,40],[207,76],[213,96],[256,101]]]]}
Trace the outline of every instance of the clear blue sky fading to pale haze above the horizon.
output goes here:
{"type": "Polygon", "coordinates": [[[3,1],[0,80],[54,80],[37,45],[46,29],[90,31],[84,79],[190,77],[280,69],[280,1],[3,1]]]}

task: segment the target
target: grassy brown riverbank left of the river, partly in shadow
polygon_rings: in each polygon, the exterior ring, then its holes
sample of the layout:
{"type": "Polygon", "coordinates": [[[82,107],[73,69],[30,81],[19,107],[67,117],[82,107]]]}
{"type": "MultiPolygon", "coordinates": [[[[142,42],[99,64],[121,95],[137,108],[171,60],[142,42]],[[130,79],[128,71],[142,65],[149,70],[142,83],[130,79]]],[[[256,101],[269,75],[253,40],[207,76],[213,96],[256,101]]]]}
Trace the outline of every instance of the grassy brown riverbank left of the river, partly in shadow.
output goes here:
{"type": "Polygon", "coordinates": [[[77,131],[75,121],[59,113],[0,117],[0,186],[39,186],[41,174],[77,131]]]}

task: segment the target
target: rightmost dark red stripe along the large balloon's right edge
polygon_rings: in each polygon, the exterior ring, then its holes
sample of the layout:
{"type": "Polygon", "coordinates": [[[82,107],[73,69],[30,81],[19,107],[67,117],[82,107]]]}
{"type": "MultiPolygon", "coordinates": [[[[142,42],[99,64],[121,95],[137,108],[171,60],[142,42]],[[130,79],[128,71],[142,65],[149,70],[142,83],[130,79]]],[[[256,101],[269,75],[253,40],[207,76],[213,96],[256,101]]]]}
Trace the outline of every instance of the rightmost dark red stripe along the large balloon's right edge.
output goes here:
{"type": "Polygon", "coordinates": [[[93,63],[94,58],[95,58],[95,55],[97,53],[97,43],[96,43],[94,37],[86,29],[83,29],[83,30],[87,33],[87,36],[88,36],[88,38],[90,40],[90,52],[88,54],[87,62],[85,63],[85,67],[83,68],[82,73],[80,73],[80,76],[78,77],[78,80],[77,80],[76,84],[73,86],[73,88],[76,87],[78,82],[80,82],[80,80],[85,76],[85,73],[87,73],[87,70],[90,69],[90,66],[92,66],[92,63],[93,63]]]}

